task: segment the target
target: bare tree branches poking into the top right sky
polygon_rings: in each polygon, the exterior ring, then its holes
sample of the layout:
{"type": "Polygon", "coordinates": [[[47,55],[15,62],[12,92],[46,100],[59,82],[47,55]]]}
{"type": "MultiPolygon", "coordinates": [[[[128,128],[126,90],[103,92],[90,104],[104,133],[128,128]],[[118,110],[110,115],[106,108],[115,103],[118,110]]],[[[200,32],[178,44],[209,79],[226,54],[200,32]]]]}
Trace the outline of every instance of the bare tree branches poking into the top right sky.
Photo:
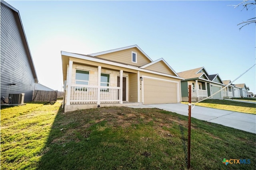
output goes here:
{"type": "MultiPolygon", "coordinates": [[[[255,8],[256,8],[256,0],[254,0],[254,1],[251,1],[251,0],[243,0],[243,2],[241,2],[240,4],[238,4],[238,5],[230,5],[230,6],[234,6],[235,8],[238,8],[238,6],[243,6],[244,8],[246,8],[246,11],[248,11],[249,10],[249,8],[250,9],[252,9],[252,10],[255,10],[255,8]]],[[[244,8],[242,9],[242,10],[244,10],[244,8]]],[[[242,11],[241,10],[241,11],[242,11]]],[[[239,23],[239,24],[237,24],[238,26],[239,25],[242,25],[240,28],[239,28],[239,30],[241,30],[241,28],[243,28],[244,26],[246,26],[246,25],[249,25],[249,24],[252,24],[252,23],[255,23],[256,24],[256,17],[254,17],[254,18],[251,18],[251,19],[248,19],[248,20],[246,20],[246,21],[243,21],[243,22],[241,22],[241,23],[239,23]]]]}

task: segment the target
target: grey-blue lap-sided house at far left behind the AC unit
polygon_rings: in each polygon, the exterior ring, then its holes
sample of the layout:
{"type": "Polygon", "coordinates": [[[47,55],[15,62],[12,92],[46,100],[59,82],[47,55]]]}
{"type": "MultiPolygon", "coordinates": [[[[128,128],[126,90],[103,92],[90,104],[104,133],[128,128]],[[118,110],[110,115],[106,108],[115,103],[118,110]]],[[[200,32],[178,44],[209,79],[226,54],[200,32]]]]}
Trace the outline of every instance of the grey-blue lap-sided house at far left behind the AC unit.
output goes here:
{"type": "Polygon", "coordinates": [[[1,0],[1,97],[24,93],[32,101],[38,82],[19,11],[1,0]]]}

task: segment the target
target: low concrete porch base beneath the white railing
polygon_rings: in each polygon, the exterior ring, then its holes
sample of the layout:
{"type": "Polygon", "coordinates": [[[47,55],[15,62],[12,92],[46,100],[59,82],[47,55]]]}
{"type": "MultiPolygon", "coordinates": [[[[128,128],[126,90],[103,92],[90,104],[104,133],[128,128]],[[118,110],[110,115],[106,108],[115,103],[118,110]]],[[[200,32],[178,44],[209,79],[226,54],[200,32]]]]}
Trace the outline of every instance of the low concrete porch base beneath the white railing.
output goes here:
{"type": "MultiPolygon", "coordinates": [[[[127,102],[123,101],[123,103],[101,103],[100,107],[121,107],[121,106],[138,106],[138,105],[143,105],[142,102],[127,102]]],[[[70,104],[70,105],[65,105],[64,106],[64,111],[69,112],[69,111],[76,111],[80,109],[92,109],[92,108],[98,108],[97,104],[70,104]]]]}

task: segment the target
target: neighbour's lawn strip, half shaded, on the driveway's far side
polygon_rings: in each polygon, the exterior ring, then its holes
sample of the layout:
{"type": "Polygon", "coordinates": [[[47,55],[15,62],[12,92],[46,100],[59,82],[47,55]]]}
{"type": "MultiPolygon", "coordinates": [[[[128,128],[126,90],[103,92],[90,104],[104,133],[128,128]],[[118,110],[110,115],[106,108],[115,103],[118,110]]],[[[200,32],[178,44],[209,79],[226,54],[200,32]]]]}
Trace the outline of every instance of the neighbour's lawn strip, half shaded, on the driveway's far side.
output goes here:
{"type": "MultiPolygon", "coordinates": [[[[188,104],[188,102],[182,102],[188,104]]],[[[223,109],[228,111],[256,114],[256,104],[244,103],[230,100],[206,99],[196,106],[211,107],[215,109],[223,109]]]]}

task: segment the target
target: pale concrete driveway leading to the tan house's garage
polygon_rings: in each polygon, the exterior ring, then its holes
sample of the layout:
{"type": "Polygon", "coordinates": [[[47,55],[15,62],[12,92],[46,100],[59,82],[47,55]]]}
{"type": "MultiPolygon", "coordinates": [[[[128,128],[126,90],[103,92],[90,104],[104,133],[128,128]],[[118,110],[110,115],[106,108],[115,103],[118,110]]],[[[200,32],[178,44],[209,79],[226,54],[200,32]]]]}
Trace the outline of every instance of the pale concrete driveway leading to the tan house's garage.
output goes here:
{"type": "MultiPolygon", "coordinates": [[[[193,106],[194,105],[192,105],[192,107],[193,106]]],[[[158,108],[188,116],[188,105],[182,103],[138,105],[129,107],[158,108]]],[[[191,110],[191,117],[244,130],[246,132],[256,133],[256,115],[254,114],[195,106],[194,109],[191,110]]]]}

